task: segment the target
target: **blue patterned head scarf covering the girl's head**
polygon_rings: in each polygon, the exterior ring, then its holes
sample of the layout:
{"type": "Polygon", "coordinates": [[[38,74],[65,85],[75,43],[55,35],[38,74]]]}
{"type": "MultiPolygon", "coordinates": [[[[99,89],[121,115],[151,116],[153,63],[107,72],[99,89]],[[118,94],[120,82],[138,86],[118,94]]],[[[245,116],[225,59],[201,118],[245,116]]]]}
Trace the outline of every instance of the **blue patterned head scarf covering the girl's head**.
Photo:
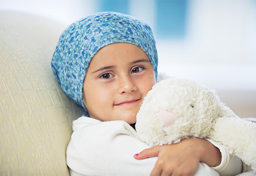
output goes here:
{"type": "Polygon", "coordinates": [[[94,54],[112,43],[139,46],[147,54],[157,77],[157,52],[150,27],[140,20],[116,12],[89,15],[72,23],[60,36],[52,69],[62,90],[86,110],[83,102],[85,73],[94,54]]]}

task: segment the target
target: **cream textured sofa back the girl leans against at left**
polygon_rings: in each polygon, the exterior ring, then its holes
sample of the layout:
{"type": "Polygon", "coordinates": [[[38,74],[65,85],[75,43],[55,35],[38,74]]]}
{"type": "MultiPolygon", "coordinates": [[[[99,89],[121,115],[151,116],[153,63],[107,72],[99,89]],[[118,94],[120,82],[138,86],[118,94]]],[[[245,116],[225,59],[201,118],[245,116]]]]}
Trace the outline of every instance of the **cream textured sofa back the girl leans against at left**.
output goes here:
{"type": "Polygon", "coordinates": [[[84,112],[60,89],[51,58],[66,26],[0,11],[0,175],[69,175],[72,121],[84,112]]]}

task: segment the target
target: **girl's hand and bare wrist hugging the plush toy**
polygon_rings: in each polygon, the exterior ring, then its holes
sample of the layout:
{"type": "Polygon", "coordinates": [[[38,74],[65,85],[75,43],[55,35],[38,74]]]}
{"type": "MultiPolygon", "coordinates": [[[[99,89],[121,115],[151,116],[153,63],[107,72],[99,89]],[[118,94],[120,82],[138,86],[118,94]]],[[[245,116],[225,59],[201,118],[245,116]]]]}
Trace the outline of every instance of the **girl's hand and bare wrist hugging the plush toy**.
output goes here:
{"type": "Polygon", "coordinates": [[[192,176],[200,161],[209,166],[218,166],[221,162],[220,151],[209,141],[200,138],[188,138],[171,145],[156,145],[134,155],[134,158],[142,160],[155,156],[158,160],[151,176],[192,176]]]}

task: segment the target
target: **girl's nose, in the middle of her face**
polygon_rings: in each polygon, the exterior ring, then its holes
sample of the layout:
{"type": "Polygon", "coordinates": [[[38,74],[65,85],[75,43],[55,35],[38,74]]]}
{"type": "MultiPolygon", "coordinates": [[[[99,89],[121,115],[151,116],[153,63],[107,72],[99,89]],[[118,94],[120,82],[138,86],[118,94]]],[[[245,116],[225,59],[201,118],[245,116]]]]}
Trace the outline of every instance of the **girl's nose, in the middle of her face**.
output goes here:
{"type": "Polygon", "coordinates": [[[122,76],[118,78],[118,93],[132,93],[137,91],[137,86],[130,76],[122,76]]]}

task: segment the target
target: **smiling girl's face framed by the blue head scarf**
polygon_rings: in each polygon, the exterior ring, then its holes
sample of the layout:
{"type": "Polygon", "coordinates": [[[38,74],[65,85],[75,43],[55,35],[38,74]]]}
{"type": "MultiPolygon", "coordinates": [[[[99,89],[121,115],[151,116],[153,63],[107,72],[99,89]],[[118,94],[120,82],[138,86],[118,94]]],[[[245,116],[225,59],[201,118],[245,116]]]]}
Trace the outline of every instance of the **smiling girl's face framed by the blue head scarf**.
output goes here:
{"type": "Polygon", "coordinates": [[[147,54],[133,44],[113,43],[90,62],[83,99],[91,118],[132,124],[154,84],[155,71],[147,54]]]}

